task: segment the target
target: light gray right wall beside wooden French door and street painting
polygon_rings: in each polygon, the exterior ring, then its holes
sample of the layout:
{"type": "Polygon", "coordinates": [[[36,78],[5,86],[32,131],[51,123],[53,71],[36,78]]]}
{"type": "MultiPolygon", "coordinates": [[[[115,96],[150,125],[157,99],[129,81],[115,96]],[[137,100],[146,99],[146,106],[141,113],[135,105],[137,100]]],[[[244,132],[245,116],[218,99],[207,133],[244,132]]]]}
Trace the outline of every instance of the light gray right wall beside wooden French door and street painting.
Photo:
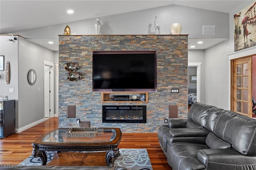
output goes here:
{"type": "Polygon", "coordinates": [[[256,53],[256,47],[234,52],[234,14],[251,4],[244,2],[230,12],[230,38],[205,50],[205,103],[223,109],[230,109],[230,58],[244,57],[256,53]]]}

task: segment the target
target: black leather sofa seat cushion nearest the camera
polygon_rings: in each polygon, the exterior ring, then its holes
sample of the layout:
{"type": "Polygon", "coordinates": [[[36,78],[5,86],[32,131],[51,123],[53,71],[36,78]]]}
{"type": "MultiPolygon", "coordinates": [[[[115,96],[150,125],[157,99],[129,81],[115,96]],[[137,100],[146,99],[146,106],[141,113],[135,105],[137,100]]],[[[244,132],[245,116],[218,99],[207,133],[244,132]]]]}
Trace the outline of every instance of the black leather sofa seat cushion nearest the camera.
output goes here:
{"type": "Polygon", "coordinates": [[[209,149],[197,143],[176,142],[167,145],[168,163],[173,170],[201,170],[205,166],[197,159],[198,150],[209,149]]]}

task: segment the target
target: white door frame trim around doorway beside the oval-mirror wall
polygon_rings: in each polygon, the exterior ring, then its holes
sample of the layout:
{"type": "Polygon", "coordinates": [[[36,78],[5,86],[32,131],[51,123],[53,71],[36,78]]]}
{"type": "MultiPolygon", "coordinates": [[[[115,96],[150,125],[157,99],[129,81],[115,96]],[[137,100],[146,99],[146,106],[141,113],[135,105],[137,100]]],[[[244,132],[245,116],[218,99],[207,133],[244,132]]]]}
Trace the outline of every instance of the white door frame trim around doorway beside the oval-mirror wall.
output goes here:
{"type": "MultiPolygon", "coordinates": [[[[54,117],[54,63],[50,62],[50,61],[43,61],[44,62],[44,67],[45,66],[50,66],[50,71],[51,71],[51,74],[50,74],[50,90],[51,90],[51,93],[50,93],[50,117],[54,117]]],[[[44,72],[45,72],[45,69],[44,69],[44,72]]],[[[44,80],[45,82],[45,80],[44,80]]],[[[45,91],[45,84],[44,84],[44,91],[45,91]]],[[[44,105],[45,105],[45,101],[44,101],[44,105]]],[[[45,110],[44,110],[44,113],[45,113],[45,110]]],[[[44,119],[45,118],[45,115],[44,115],[44,119]]]]}

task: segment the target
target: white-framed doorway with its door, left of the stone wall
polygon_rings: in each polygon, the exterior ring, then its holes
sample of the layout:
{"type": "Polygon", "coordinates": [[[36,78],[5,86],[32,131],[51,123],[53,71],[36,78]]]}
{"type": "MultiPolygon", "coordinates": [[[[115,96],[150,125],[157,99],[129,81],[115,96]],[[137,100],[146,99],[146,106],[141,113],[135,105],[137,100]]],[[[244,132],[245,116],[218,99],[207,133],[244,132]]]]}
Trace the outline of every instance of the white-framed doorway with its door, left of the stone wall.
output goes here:
{"type": "Polygon", "coordinates": [[[44,61],[44,117],[54,117],[54,63],[44,61]]]}

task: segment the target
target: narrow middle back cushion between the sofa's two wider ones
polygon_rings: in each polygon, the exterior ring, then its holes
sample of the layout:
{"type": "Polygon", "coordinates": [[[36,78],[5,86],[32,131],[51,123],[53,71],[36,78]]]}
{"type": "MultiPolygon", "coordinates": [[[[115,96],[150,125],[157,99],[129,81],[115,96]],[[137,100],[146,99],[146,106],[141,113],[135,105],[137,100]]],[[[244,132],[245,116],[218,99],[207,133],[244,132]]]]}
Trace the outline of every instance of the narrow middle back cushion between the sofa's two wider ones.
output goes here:
{"type": "Polygon", "coordinates": [[[225,111],[225,110],[217,107],[213,107],[212,109],[210,109],[206,119],[206,124],[205,124],[206,129],[213,132],[213,128],[216,124],[217,117],[221,111],[225,111]]]}

